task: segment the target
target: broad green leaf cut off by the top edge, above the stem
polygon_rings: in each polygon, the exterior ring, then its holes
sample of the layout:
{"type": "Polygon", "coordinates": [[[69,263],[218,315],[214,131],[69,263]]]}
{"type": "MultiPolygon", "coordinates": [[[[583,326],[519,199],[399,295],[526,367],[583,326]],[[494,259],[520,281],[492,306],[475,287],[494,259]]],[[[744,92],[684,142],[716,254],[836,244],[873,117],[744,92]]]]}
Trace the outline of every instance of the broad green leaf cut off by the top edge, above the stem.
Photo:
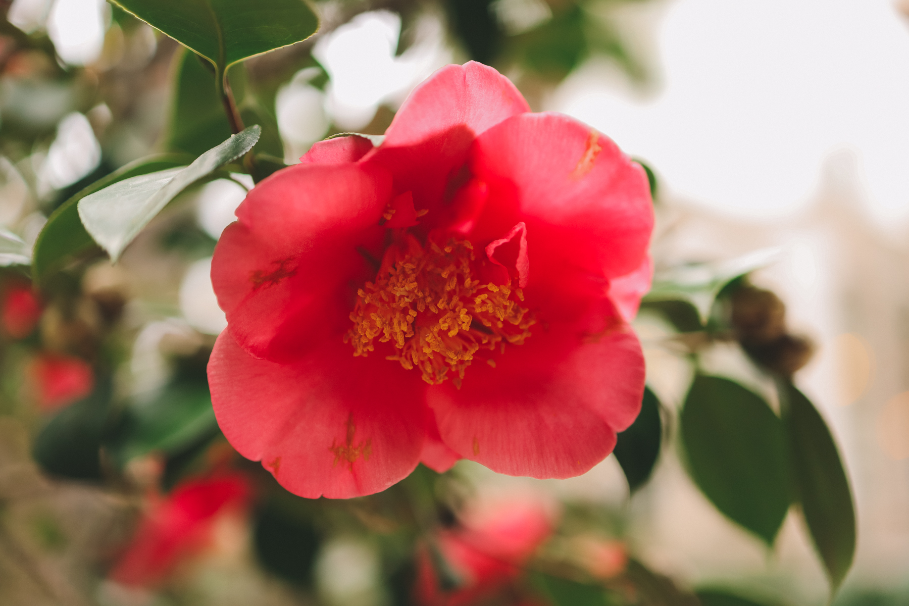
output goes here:
{"type": "Polygon", "coordinates": [[[238,61],[305,40],[319,27],[305,0],[112,1],[204,56],[221,73],[238,61]]]}

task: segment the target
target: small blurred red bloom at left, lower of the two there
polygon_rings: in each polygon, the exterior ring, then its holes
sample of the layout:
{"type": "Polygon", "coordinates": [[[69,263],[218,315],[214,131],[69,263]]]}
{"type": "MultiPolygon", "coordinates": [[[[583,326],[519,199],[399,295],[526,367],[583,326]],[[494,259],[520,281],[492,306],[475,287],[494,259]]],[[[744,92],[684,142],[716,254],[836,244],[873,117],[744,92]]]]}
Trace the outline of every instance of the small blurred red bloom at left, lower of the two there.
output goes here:
{"type": "Polygon", "coordinates": [[[62,353],[41,353],[28,366],[38,405],[55,411],[84,398],[95,386],[92,367],[81,358],[62,353]]]}

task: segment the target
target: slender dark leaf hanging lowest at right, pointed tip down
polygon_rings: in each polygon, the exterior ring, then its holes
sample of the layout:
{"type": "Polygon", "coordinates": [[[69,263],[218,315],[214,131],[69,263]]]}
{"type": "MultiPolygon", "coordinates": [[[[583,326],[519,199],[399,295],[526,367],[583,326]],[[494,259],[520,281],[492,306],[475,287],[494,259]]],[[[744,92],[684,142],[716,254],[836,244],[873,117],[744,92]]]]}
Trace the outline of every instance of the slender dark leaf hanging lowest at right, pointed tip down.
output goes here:
{"type": "Polygon", "coordinates": [[[795,496],[835,592],[855,554],[852,491],[834,437],[820,412],[791,382],[779,380],[777,389],[789,441],[795,496]]]}

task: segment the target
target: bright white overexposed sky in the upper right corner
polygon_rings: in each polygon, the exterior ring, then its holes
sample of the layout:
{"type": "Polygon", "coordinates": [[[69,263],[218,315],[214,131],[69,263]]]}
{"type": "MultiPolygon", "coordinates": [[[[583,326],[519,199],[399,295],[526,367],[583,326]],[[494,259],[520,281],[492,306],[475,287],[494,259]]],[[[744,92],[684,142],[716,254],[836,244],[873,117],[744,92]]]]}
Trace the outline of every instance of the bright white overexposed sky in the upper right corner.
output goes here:
{"type": "Polygon", "coordinates": [[[909,22],[890,0],[675,0],[645,102],[570,78],[554,109],[653,164],[674,191],[780,217],[853,149],[878,220],[909,218],[909,22]]]}

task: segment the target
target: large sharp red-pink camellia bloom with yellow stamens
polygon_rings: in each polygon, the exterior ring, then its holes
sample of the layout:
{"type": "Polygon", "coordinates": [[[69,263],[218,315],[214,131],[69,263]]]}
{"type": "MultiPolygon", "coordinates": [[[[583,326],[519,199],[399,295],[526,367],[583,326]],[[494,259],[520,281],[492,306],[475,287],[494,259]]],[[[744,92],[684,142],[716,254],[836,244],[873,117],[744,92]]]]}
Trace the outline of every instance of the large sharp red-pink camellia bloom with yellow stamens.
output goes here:
{"type": "Polygon", "coordinates": [[[421,84],[377,147],[301,160],[247,195],[212,262],[228,328],[208,377],[237,451],[305,497],[421,460],[565,478],[612,452],[644,390],[640,165],[473,62],[421,84]]]}

